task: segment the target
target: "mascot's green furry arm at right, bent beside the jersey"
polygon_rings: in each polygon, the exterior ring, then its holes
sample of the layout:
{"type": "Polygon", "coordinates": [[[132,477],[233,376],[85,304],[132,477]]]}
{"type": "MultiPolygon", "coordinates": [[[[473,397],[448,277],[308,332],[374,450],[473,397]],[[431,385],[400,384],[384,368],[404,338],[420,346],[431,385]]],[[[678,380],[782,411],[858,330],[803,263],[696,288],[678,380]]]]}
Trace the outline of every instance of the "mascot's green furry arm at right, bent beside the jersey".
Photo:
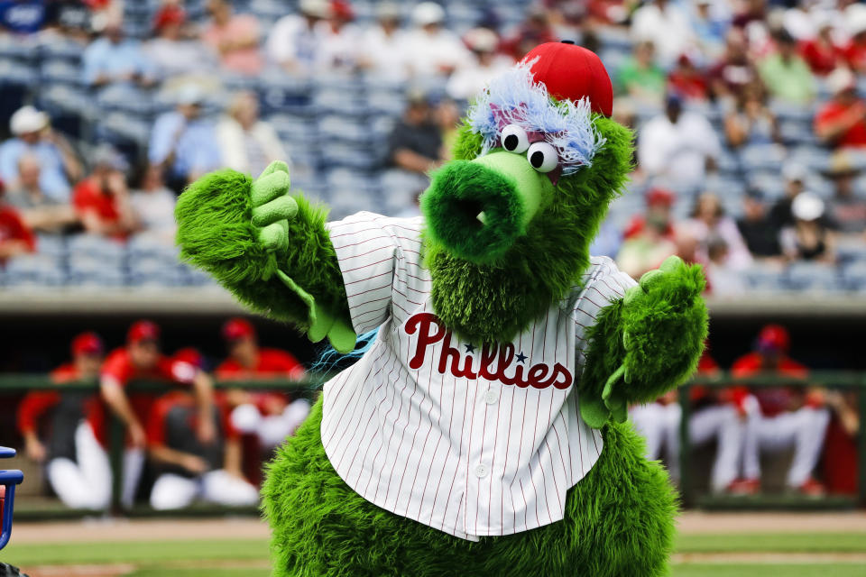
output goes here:
{"type": "Polygon", "coordinates": [[[629,404],[650,402],[695,371],[707,334],[704,287],[699,265],[672,256],[603,309],[578,385],[589,426],[622,423],[629,404]]]}

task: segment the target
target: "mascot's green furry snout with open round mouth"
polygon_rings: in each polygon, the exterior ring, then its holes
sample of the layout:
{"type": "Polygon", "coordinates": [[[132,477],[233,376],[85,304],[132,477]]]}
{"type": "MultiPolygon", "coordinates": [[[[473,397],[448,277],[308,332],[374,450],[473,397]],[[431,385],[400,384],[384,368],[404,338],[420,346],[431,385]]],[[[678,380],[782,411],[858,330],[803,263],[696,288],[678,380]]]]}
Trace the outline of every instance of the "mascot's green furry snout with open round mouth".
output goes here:
{"type": "Polygon", "coordinates": [[[447,251],[467,261],[502,257],[552,191],[530,160],[491,151],[475,160],[454,160],[432,176],[421,197],[428,231],[447,251]]]}

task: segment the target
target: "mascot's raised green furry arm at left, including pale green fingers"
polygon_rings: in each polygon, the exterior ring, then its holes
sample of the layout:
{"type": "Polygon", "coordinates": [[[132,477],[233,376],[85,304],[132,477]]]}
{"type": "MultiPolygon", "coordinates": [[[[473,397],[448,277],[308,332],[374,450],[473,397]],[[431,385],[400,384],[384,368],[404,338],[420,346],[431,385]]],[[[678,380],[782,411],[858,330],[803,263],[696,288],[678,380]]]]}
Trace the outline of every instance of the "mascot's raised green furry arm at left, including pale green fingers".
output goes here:
{"type": "Polygon", "coordinates": [[[181,256],[254,311],[351,351],[355,333],[327,211],[290,197],[289,188],[284,162],[255,180],[231,169],[198,179],[175,208],[181,256]]]}

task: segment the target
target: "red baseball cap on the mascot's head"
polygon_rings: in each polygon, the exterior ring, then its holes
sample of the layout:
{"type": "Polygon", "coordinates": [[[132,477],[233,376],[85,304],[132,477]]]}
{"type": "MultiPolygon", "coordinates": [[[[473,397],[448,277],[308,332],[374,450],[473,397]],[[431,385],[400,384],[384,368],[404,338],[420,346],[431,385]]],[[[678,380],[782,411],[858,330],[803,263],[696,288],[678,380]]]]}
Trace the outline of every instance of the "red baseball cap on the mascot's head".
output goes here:
{"type": "Polygon", "coordinates": [[[592,50],[573,41],[539,44],[522,62],[538,59],[530,68],[532,77],[548,87],[548,93],[560,100],[589,99],[593,112],[613,113],[613,85],[602,60],[592,50]]]}

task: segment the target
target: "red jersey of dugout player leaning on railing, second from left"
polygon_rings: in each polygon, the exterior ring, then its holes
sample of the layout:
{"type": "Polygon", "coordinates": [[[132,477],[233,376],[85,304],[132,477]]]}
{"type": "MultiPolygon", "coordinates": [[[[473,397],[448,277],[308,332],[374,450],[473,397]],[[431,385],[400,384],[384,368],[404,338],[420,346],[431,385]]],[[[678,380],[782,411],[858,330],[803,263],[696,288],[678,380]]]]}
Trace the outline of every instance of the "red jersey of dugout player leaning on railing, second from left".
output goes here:
{"type": "MultiPolygon", "coordinates": [[[[102,364],[100,376],[117,381],[121,387],[126,387],[130,380],[168,380],[170,382],[189,385],[198,373],[198,369],[189,362],[172,360],[160,355],[156,365],[149,370],[136,368],[125,347],[115,349],[106,357],[102,364]]],[[[129,395],[129,404],[140,423],[146,423],[156,396],[152,392],[140,392],[129,395]]],[[[88,421],[100,443],[106,444],[106,407],[105,403],[94,403],[89,411],[88,421]]]]}

